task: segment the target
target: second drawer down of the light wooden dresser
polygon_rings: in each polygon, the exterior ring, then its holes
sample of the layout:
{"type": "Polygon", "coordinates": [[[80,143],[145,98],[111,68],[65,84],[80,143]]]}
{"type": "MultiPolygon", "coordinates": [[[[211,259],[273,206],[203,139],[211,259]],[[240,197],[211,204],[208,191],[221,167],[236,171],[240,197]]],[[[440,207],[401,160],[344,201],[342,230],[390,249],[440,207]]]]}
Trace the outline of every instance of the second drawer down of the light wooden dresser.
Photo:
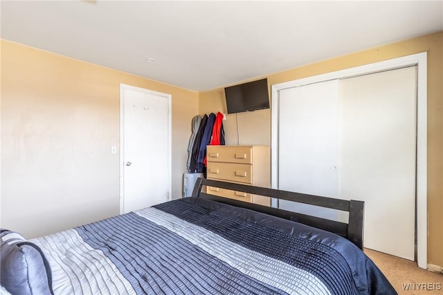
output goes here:
{"type": "Polygon", "coordinates": [[[252,166],[248,164],[208,162],[206,177],[213,180],[252,184],[252,166]]]}

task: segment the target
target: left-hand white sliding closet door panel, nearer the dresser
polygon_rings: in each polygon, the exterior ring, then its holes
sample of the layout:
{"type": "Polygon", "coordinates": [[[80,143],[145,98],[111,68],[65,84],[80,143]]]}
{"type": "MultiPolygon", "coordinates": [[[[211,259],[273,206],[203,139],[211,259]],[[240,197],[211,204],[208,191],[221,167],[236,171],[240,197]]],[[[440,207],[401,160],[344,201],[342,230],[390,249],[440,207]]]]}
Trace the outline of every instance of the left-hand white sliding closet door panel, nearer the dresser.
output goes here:
{"type": "MultiPolygon", "coordinates": [[[[278,187],[338,198],[338,80],[280,91],[278,111],[278,187]]],[[[336,211],[284,200],[279,207],[338,218],[336,211]]]]}

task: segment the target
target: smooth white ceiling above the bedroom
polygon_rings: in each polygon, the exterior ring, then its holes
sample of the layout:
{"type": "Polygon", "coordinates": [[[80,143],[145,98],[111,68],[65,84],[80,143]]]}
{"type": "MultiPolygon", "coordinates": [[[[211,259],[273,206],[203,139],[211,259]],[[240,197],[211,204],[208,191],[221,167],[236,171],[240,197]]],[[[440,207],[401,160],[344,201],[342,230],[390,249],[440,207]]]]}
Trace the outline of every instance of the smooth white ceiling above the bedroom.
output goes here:
{"type": "Polygon", "coordinates": [[[440,30],[441,0],[1,1],[3,39],[193,91],[440,30]]]}

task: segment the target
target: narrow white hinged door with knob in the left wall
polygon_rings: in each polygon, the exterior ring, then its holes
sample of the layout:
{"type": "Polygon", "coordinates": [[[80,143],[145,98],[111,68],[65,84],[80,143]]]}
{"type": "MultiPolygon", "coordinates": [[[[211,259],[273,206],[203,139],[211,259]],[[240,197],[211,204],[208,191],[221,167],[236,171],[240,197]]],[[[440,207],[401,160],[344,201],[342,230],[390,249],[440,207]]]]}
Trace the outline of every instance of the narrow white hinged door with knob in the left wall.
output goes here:
{"type": "Polygon", "coordinates": [[[120,86],[120,213],[170,198],[170,95],[120,86]]]}

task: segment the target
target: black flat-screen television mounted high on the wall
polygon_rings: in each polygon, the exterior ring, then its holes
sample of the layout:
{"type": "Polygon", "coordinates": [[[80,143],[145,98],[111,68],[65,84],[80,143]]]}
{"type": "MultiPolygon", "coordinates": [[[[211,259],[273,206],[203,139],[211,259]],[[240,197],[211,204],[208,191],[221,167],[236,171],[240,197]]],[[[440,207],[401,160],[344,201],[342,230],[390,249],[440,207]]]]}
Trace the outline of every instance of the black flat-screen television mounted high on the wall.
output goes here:
{"type": "Polygon", "coordinates": [[[269,108],[268,79],[224,88],[228,114],[269,108]]]}

